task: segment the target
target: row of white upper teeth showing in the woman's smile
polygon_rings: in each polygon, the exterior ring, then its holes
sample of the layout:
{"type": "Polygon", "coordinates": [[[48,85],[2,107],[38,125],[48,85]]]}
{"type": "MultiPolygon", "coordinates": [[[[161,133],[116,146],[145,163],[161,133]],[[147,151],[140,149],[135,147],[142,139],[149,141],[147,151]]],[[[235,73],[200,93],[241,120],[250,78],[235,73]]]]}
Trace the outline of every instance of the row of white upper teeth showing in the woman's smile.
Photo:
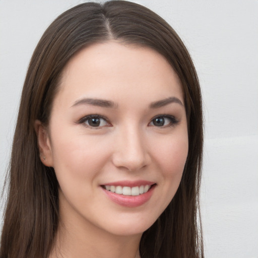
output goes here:
{"type": "Polygon", "coordinates": [[[129,187],[129,186],[114,186],[114,185],[104,185],[105,189],[111,192],[118,193],[118,195],[124,195],[124,196],[139,196],[143,193],[147,192],[151,185],[141,185],[129,187]]]}

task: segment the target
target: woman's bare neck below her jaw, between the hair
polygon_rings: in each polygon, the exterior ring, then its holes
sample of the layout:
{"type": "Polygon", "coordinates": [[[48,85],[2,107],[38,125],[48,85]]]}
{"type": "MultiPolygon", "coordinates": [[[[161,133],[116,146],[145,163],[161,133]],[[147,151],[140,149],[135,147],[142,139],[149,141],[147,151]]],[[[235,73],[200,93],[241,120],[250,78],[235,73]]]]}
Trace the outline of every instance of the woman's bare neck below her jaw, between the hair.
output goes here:
{"type": "Polygon", "coordinates": [[[49,258],[140,258],[142,234],[114,235],[83,218],[60,217],[62,220],[49,258]]]}

